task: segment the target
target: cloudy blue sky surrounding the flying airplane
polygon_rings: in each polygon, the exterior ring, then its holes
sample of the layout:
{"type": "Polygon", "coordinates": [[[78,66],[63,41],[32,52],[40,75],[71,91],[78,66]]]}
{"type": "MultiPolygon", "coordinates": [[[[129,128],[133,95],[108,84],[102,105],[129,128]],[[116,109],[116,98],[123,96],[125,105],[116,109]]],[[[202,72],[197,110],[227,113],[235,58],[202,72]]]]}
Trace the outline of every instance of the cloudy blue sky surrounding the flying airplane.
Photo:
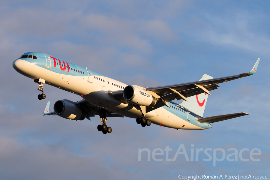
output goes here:
{"type": "MultiPolygon", "coordinates": [[[[0,1],[1,179],[178,179],[181,175],[269,176],[268,1],[0,1]],[[81,97],[37,84],[12,62],[25,52],[44,52],[119,81],[144,87],[248,72],[254,76],[211,91],[204,117],[246,112],[203,131],[110,118],[113,129],[97,131],[98,117],[76,122],[42,116],[47,101],[81,97]],[[147,161],[138,149],[260,149],[260,161],[147,161]],[[194,147],[191,147],[191,145],[194,147]]],[[[180,103],[180,102],[179,102],[180,103]]],[[[194,150],[195,151],[195,150],[194,150]]],[[[164,151],[165,153],[165,151],[164,151]]],[[[211,154],[211,153],[210,153],[211,154]]],[[[211,154],[213,156],[213,152],[211,154]]],[[[217,154],[221,158],[221,154],[217,154]]],[[[243,158],[249,158],[248,151],[243,158]]],[[[232,159],[232,158],[231,158],[232,159]]]]}

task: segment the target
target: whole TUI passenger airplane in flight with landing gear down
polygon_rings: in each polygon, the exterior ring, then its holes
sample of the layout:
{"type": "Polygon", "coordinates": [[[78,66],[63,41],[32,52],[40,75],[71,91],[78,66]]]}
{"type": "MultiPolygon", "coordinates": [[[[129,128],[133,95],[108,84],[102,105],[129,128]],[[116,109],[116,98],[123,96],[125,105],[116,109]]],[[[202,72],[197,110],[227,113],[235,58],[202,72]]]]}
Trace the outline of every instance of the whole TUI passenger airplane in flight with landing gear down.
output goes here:
{"type": "Polygon", "coordinates": [[[217,89],[219,83],[253,75],[259,60],[248,73],[215,79],[204,74],[199,81],[150,88],[128,85],[41,52],[24,53],[13,61],[12,66],[38,83],[38,91],[41,91],[39,100],[46,98],[44,84],[82,97],[77,102],[67,99],[56,101],[53,112],[49,112],[48,102],[44,116],[58,115],[76,121],[99,116],[102,125],[98,125],[98,131],[107,134],[112,132],[112,128],[107,127],[107,117],[136,118],[137,124],[143,127],[153,123],[177,130],[202,130],[212,128],[211,123],[214,122],[248,115],[234,113],[203,117],[209,91],[217,89]],[[183,101],[177,104],[173,102],[175,99],[183,101]]]}

